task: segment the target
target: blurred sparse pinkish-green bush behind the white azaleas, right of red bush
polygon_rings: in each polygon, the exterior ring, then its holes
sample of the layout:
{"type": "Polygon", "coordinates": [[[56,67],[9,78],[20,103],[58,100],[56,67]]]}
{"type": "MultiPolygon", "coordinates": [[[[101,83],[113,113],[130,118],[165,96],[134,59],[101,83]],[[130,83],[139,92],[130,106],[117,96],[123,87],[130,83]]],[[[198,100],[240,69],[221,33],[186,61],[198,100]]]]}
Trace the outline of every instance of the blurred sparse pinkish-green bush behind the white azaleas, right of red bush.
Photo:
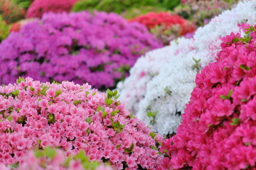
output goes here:
{"type": "Polygon", "coordinates": [[[238,0],[182,1],[183,4],[174,9],[175,13],[186,18],[197,26],[204,26],[210,19],[230,8],[238,0]]]}

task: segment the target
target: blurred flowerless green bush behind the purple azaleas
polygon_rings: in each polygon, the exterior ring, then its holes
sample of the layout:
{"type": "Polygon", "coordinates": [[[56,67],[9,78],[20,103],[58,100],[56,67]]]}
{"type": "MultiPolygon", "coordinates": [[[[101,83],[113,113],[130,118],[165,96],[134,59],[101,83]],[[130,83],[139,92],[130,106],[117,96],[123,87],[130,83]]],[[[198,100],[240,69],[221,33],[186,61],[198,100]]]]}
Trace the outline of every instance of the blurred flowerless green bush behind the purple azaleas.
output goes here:
{"type": "Polygon", "coordinates": [[[122,13],[127,9],[142,6],[159,6],[159,0],[80,0],[73,6],[73,11],[106,11],[122,13]]]}

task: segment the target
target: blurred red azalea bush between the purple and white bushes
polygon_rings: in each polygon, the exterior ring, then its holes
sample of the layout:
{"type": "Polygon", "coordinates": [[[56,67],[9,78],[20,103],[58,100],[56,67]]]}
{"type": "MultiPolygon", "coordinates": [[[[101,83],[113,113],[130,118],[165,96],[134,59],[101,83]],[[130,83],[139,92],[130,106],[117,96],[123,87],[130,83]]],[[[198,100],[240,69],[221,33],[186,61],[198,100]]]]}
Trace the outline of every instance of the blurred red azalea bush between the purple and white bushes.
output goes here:
{"type": "Polygon", "coordinates": [[[169,44],[170,40],[180,35],[195,31],[195,27],[191,23],[181,18],[181,16],[169,12],[149,12],[132,18],[129,21],[142,23],[166,45],[169,44]]]}

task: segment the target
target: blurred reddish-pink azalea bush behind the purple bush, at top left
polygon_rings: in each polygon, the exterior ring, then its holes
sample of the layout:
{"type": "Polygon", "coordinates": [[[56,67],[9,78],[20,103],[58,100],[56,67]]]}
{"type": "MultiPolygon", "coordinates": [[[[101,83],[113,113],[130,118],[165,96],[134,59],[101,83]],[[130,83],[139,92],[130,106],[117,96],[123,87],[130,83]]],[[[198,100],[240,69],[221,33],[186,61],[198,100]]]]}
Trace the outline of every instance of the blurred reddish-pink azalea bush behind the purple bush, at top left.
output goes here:
{"type": "Polygon", "coordinates": [[[72,6],[78,0],[35,0],[29,6],[26,18],[34,18],[43,16],[43,13],[54,12],[70,12],[72,6]]]}

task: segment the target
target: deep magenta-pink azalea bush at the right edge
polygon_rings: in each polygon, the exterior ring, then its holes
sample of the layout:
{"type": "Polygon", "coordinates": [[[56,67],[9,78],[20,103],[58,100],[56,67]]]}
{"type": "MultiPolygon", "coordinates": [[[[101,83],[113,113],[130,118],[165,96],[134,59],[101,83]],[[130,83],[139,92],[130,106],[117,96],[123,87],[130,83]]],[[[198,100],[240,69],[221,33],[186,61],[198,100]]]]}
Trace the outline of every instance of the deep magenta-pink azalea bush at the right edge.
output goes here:
{"type": "Polygon", "coordinates": [[[164,140],[164,169],[255,169],[256,25],[222,40],[217,62],[196,88],[174,137],[164,140]]]}

